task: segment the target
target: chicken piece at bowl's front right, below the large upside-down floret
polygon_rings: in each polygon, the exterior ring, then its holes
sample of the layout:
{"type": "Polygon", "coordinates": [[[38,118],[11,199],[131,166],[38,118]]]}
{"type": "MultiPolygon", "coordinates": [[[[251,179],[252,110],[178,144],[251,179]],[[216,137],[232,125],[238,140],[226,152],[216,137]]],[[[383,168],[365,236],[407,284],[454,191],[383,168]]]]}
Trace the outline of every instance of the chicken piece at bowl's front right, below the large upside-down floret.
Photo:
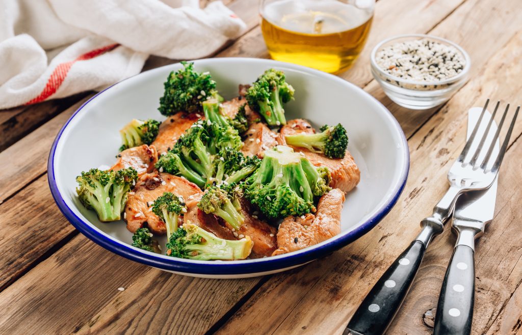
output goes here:
{"type": "Polygon", "coordinates": [[[339,234],[344,202],[345,193],[334,188],[319,199],[315,215],[284,218],[277,233],[278,249],[272,255],[301,250],[339,234]]]}

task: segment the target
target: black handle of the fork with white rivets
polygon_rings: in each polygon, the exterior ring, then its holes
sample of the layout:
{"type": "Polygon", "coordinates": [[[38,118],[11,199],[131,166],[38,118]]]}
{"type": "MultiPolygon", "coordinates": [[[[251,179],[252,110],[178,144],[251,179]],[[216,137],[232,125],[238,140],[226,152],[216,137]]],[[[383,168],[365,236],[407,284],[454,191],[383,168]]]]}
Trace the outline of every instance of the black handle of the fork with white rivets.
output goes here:
{"type": "Polygon", "coordinates": [[[410,289],[425,251],[421,241],[411,242],[366,295],[345,333],[380,335],[386,331],[410,289]]]}

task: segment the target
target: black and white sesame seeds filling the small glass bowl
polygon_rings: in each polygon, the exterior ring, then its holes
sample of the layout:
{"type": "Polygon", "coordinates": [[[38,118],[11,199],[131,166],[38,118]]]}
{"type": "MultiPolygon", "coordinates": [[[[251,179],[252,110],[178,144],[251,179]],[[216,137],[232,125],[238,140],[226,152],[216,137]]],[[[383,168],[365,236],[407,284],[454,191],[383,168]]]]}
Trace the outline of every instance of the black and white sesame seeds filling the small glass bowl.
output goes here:
{"type": "Polygon", "coordinates": [[[401,83],[383,78],[387,82],[420,90],[439,89],[449,85],[435,83],[457,76],[466,66],[465,57],[457,48],[429,38],[385,46],[377,51],[375,61],[389,75],[426,84],[401,83]]]}

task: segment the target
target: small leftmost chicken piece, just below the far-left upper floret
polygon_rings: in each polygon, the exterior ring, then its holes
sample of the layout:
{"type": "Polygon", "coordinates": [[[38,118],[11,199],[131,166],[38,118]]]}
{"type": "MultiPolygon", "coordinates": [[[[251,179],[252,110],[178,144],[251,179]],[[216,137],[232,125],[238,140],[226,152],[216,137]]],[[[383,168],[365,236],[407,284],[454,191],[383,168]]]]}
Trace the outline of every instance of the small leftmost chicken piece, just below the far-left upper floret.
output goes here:
{"type": "Polygon", "coordinates": [[[158,161],[158,152],[153,145],[144,144],[123,150],[117,157],[118,160],[111,170],[118,171],[132,166],[138,172],[138,176],[141,176],[154,170],[154,164],[158,161]]]}

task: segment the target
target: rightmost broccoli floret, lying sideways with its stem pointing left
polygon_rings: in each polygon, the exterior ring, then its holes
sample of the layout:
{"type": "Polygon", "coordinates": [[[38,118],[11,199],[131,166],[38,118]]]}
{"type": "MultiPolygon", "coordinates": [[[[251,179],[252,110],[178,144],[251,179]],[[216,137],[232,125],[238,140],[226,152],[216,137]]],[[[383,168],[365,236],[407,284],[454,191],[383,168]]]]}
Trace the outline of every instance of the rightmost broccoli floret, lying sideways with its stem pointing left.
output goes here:
{"type": "Polygon", "coordinates": [[[303,147],[313,152],[322,152],[326,157],[345,157],[348,146],[346,129],[340,123],[336,126],[324,125],[318,134],[286,135],[287,144],[294,147],[303,147]]]}

